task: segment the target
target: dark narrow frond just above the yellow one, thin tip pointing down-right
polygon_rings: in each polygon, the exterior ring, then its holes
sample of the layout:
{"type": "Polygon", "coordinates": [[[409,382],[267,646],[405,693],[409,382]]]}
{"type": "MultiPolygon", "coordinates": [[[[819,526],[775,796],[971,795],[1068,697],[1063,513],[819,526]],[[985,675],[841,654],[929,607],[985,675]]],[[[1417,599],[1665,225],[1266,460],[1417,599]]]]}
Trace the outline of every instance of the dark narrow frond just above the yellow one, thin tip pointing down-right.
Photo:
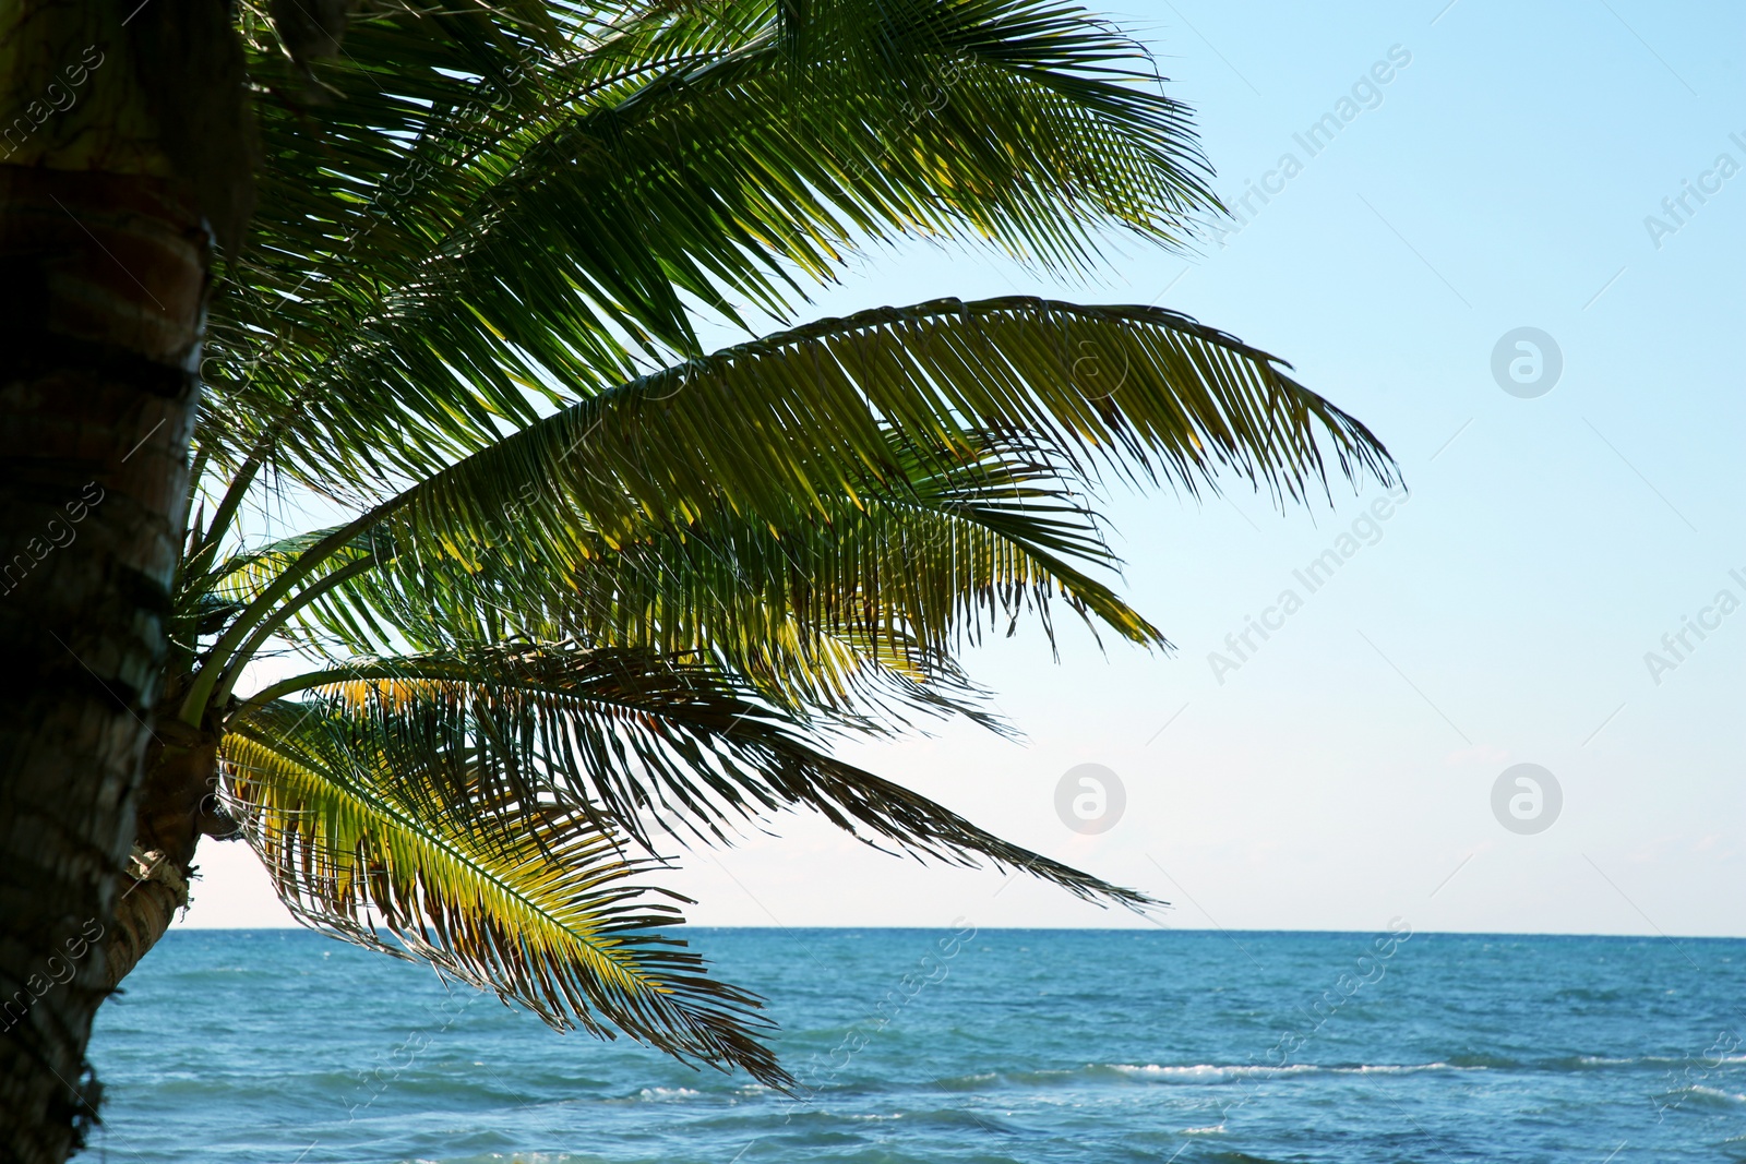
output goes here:
{"type": "Polygon", "coordinates": [[[707,663],[566,644],[353,660],[262,693],[316,691],[374,724],[421,785],[464,806],[473,787],[526,803],[555,791],[644,846],[653,825],[728,841],[803,806],[868,843],[1018,869],[1077,897],[1149,899],[1020,848],[959,813],[814,747],[791,719],[707,663]]]}

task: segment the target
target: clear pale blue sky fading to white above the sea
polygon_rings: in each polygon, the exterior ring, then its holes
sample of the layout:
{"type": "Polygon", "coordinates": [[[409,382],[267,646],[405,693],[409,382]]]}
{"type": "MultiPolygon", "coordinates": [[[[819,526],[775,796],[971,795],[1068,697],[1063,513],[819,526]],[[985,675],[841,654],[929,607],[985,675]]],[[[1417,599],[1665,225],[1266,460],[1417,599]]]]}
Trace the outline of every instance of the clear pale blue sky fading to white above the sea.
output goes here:
{"type": "MultiPolygon", "coordinates": [[[[1247,222],[1189,258],[1119,243],[1093,284],[880,251],[815,314],[1158,302],[1290,359],[1411,492],[1283,513],[1236,482],[1200,503],[1116,494],[1126,595],[1175,654],[1069,630],[1055,663],[1021,632],[969,665],[1023,743],[953,728],[845,754],[1168,899],[1159,925],[1746,934],[1746,9],[1110,16],[1198,110],[1220,195],[1266,192],[1247,222]],[[1310,576],[1329,550],[1337,567],[1310,576]],[[1083,773],[1058,798],[1079,764],[1124,792],[1100,832],[1065,824],[1076,794],[1096,810],[1083,773]]],[[[1147,925],[801,817],[770,827],[686,859],[670,883],[693,921],[1147,925]]],[[[239,845],[201,866],[187,925],[288,923],[239,845]]]]}

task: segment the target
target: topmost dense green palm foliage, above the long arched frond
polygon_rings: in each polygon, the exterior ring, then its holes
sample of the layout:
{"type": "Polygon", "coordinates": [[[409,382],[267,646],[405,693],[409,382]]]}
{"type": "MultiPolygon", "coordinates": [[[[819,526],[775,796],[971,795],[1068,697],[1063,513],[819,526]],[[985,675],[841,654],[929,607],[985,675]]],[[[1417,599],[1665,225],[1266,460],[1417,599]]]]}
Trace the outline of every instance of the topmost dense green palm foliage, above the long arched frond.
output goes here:
{"type": "Polygon", "coordinates": [[[1212,204],[1186,110],[1070,5],[658,9],[531,68],[409,37],[358,28],[318,122],[267,110],[257,248],[215,305],[220,464],[267,440],[316,489],[419,476],[693,354],[686,297],[782,316],[859,239],[1070,264],[1212,204]]]}

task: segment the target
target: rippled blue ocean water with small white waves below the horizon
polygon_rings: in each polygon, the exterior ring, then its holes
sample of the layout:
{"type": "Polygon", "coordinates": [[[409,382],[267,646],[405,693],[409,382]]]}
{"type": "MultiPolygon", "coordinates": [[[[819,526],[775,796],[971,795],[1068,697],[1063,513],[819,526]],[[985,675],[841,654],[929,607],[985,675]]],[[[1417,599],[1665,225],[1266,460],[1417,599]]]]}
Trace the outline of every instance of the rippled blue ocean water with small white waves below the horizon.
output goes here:
{"type": "Polygon", "coordinates": [[[175,932],[98,1021],[117,1164],[1746,1161],[1746,942],[691,930],[805,1092],[306,932],[175,932]]]}

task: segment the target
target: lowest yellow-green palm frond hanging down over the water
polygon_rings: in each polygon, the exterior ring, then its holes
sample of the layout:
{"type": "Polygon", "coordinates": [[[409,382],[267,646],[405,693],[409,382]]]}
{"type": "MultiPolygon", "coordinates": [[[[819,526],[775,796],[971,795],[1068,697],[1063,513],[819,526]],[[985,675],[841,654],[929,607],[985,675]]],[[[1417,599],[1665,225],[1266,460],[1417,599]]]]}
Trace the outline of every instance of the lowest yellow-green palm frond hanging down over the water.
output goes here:
{"type": "Polygon", "coordinates": [[[663,892],[630,880],[651,862],[627,859],[599,815],[468,784],[459,754],[431,773],[379,721],[321,703],[250,709],[222,759],[229,808],[302,921],[428,962],[559,1030],[616,1028],[791,1082],[758,1042],[758,1000],[656,930],[677,909],[646,900],[663,892]]]}

